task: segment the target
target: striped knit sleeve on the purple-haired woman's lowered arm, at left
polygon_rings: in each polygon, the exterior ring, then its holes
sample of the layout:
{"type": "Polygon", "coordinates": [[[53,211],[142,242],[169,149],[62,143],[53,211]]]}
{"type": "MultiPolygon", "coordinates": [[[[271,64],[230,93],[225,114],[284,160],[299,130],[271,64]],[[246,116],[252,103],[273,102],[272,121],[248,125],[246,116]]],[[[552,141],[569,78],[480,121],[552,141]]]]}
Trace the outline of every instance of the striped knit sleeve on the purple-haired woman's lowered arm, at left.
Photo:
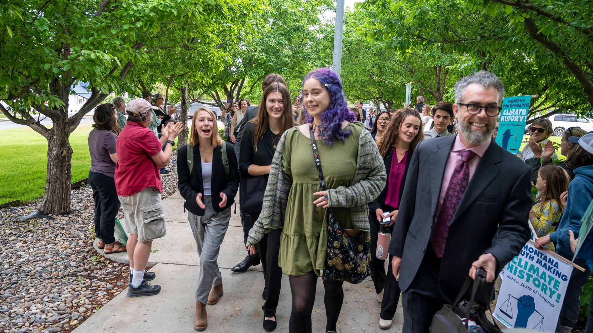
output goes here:
{"type": "Polygon", "coordinates": [[[284,172],[282,168],[282,152],[286,143],[286,135],[291,132],[284,132],[272,159],[270,175],[267,178],[266,192],[263,196],[262,213],[253,224],[247,236],[247,245],[254,245],[262,240],[263,235],[270,229],[282,228],[288,193],[292,186],[292,177],[284,172]]]}

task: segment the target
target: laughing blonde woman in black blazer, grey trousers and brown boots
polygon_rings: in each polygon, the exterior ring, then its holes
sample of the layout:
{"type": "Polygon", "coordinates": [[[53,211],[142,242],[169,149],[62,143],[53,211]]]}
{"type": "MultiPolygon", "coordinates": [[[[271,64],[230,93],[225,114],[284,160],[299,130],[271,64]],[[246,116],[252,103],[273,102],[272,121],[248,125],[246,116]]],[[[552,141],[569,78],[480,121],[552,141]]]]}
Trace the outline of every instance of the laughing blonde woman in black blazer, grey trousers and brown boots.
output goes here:
{"type": "Polygon", "coordinates": [[[223,294],[216,260],[231,219],[239,172],[233,146],[218,136],[216,116],[208,108],[197,108],[190,142],[177,154],[179,191],[186,200],[183,207],[188,211],[200,256],[193,325],[197,331],[203,331],[208,326],[206,304],[215,305],[223,294]]]}

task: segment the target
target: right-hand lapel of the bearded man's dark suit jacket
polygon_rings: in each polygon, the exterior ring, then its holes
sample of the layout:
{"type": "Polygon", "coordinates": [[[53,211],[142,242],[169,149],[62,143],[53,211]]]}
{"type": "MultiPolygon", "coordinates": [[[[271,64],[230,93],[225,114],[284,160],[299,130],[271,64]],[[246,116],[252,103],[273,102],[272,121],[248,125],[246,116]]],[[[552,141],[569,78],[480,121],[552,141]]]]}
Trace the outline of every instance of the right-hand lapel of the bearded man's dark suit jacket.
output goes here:
{"type": "Polygon", "coordinates": [[[490,146],[488,146],[488,149],[484,152],[484,156],[480,159],[476,172],[474,172],[473,177],[471,177],[470,183],[467,184],[466,193],[463,194],[451,223],[455,222],[455,219],[466,211],[467,207],[476,200],[500,172],[498,167],[496,167],[496,164],[502,161],[502,157],[500,156],[498,149],[496,149],[498,148],[497,146],[495,141],[492,140],[490,146]]]}

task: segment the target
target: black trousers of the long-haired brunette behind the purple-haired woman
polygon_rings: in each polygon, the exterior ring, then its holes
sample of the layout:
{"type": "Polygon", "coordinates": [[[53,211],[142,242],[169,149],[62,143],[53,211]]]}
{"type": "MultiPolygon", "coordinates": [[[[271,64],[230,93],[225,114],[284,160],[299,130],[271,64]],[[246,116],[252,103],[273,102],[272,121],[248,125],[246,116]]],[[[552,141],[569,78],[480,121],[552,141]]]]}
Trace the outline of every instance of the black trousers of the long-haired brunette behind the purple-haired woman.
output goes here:
{"type": "Polygon", "coordinates": [[[259,242],[259,255],[262,260],[264,279],[266,280],[266,302],[262,306],[266,317],[276,315],[280,287],[282,287],[282,269],[278,267],[280,233],[282,233],[282,229],[270,229],[263,236],[262,241],[259,242]]]}

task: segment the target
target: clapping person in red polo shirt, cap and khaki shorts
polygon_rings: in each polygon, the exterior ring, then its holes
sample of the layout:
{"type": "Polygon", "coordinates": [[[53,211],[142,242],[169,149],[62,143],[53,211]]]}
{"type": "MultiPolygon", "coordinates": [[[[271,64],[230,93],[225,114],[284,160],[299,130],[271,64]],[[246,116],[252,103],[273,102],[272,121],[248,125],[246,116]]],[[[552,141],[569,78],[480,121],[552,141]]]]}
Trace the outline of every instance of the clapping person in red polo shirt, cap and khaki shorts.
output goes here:
{"type": "Polygon", "coordinates": [[[169,164],[175,145],[173,140],[183,129],[183,123],[170,123],[162,127],[161,139],[157,139],[147,128],[152,120],[152,108],[156,107],[144,98],[130,101],[126,106],[127,124],[116,143],[119,161],[115,168],[115,186],[125,215],[126,231],[130,234],[127,240],[129,297],[155,295],[161,291],[161,286],[147,282],[154,279],[155,274],[145,270],[152,240],[167,235],[160,168],[169,164]]]}

